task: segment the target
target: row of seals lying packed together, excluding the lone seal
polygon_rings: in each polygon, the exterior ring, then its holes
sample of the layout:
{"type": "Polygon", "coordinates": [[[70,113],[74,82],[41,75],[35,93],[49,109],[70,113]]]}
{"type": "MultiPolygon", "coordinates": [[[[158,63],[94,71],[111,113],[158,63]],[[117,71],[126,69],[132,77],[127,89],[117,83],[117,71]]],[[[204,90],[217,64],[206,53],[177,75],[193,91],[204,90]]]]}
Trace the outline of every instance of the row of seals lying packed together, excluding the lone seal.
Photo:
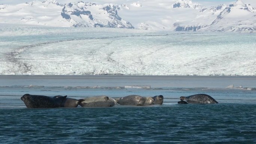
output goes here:
{"type": "Polygon", "coordinates": [[[117,103],[120,105],[152,105],[162,104],[164,96],[143,97],[139,95],[128,95],[122,98],[113,99],[109,96],[93,96],[83,99],[67,98],[56,95],[53,97],[45,95],[25,94],[21,97],[27,108],[57,108],[57,107],[113,107],[117,103]]]}

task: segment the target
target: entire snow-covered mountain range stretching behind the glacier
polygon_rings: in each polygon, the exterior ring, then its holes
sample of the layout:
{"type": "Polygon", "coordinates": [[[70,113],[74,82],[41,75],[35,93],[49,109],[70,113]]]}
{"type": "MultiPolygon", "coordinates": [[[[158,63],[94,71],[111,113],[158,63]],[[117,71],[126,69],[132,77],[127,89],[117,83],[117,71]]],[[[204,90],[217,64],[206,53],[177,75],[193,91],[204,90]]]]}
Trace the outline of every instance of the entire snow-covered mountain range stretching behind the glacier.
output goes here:
{"type": "Polygon", "coordinates": [[[205,7],[192,0],[61,4],[56,0],[0,4],[0,23],[174,31],[256,32],[256,2],[205,7]]]}

